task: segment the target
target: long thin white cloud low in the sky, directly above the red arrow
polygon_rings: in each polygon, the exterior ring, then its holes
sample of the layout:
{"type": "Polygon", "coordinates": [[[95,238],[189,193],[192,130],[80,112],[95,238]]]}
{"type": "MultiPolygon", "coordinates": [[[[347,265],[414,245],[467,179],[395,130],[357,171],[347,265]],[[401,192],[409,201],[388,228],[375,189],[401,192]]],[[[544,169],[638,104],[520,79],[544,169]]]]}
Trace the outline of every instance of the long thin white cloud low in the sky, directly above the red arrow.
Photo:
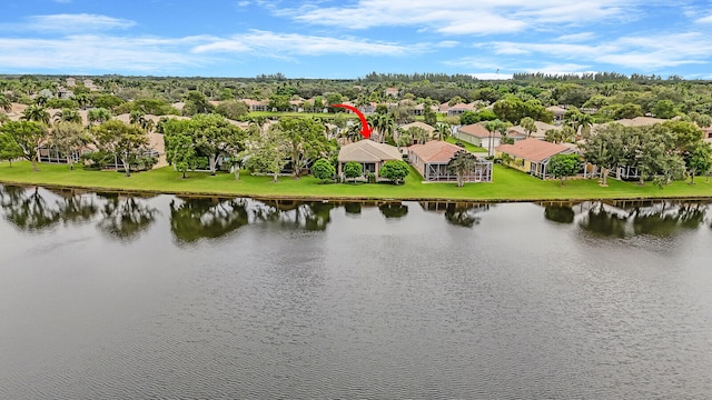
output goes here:
{"type": "Polygon", "coordinates": [[[194,53],[254,52],[266,57],[284,56],[407,56],[423,52],[423,46],[400,46],[357,39],[305,36],[298,33],[274,33],[251,30],[228,39],[215,39],[196,46],[194,53]]]}

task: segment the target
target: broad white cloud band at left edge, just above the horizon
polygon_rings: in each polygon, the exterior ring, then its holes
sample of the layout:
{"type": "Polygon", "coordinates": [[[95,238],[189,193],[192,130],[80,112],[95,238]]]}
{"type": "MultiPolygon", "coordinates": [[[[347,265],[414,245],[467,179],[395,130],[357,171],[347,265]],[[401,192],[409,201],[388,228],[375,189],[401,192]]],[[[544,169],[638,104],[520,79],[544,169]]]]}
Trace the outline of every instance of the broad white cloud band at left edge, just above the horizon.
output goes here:
{"type": "Polygon", "coordinates": [[[209,62],[185,51],[202,37],[182,39],[70,36],[60,39],[0,38],[0,66],[16,70],[154,71],[209,62]]]}

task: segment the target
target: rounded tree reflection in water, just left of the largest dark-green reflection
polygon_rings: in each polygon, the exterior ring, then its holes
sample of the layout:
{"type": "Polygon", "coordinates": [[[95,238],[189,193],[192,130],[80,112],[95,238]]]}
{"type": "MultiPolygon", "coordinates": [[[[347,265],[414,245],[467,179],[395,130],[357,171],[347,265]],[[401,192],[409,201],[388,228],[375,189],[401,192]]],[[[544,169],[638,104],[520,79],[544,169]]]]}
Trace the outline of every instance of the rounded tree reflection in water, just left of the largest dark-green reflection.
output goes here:
{"type": "Polygon", "coordinates": [[[156,220],[158,210],[138,194],[97,193],[105,199],[100,231],[121,241],[131,241],[145,232],[156,220]]]}

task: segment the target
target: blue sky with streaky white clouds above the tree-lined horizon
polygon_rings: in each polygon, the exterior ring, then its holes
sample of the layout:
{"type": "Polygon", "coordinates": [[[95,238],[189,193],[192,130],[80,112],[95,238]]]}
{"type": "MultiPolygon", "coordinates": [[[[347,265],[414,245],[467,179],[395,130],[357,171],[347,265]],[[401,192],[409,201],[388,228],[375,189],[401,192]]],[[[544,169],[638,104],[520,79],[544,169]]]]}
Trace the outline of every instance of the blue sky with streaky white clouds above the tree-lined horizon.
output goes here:
{"type": "Polygon", "coordinates": [[[0,73],[712,79],[712,2],[2,0],[0,73]]]}

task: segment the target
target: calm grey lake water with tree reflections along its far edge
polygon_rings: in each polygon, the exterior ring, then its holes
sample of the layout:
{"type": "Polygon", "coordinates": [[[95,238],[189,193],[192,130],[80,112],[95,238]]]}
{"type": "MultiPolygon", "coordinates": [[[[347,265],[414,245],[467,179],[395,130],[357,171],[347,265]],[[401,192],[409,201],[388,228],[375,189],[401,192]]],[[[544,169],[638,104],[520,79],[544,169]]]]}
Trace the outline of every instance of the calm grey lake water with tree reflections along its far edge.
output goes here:
{"type": "Polygon", "coordinates": [[[0,187],[0,398],[712,398],[701,202],[0,187]]]}

